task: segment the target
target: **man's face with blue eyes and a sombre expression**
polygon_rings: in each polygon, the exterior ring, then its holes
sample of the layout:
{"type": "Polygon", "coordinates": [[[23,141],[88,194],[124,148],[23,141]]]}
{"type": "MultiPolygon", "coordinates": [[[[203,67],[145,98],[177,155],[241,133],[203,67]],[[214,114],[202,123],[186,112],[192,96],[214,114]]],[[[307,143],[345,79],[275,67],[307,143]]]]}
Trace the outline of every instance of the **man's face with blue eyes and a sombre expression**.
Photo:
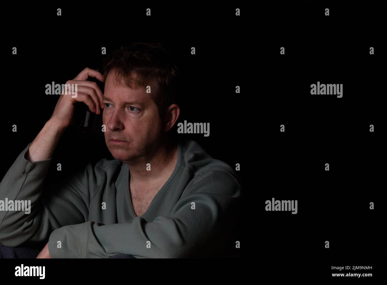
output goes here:
{"type": "Polygon", "coordinates": [[[158,108],[151,94],[143,88],[134,90],[120,86],[111,71],[103,95],[104,136],[113,157],[129,162],[148,154],[157,145],[162,131],[158,108]]]}

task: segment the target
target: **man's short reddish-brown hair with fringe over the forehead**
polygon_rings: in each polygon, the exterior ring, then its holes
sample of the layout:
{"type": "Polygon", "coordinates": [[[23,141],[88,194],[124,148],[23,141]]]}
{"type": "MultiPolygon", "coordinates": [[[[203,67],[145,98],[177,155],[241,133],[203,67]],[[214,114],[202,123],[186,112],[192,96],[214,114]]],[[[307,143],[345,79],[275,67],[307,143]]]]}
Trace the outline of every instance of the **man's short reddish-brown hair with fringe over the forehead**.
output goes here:
{"type": "Polygon", "coordinates": [[[104,82],[111,70],[116,72],[115,79],[119,84],[123,83],[132,89],[151,86],[152,100],[158,107],[159,117],[164,121],[166,109],[177,100],[179,73],[175,60],[162,43],[121,46],[104,61],[104,82]]]}

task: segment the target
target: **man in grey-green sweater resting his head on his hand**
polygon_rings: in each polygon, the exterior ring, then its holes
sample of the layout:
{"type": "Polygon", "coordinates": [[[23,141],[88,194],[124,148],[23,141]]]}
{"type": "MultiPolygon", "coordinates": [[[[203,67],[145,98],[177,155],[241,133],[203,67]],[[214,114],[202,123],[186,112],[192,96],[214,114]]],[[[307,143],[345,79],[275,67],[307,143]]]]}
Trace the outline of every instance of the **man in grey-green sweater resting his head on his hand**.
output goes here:
{"type": "Polygon", "coordinates": [[[0,184],[0,199],[31,200],[31,214],[0,211],[0,245],[47,241],[38,258],[219,257],[235,250],[241,188],[235,171],[198,143],[170,132],[177,69],[159,44],[111,54],[104,74],[84,69],[0,184]],[[104,93],[89,77],[105,83],[104,93]],[[150,91],[150,93],[149,93],[150,91]],[[100,114],[113,160],[45,186],[75,102],[100,114]],[[231,239],[231,242],[230,242],[231,239]]]}

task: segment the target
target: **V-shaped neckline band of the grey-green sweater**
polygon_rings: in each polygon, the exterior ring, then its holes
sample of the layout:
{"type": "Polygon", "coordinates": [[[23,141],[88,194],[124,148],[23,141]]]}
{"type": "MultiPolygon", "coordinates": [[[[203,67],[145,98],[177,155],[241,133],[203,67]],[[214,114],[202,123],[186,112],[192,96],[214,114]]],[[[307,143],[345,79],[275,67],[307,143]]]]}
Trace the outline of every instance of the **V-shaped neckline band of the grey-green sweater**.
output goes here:
{"type": "MultiPolygon", "coordinates": [[[[171,176],[168,178],[168,180],[164,183],[163,187],[161,187],[161,189],[159,190],[159,192],[156,193],[156,195],[154,195],[151,203],[149,204],[148,206],[148,209],[144,212],[144,214],[142,214],[140,217],[144,217],[146,214],[149,214],[149,212],[152,212],[152,204],[153,204],[153,201],[158,197],[158,195],[164,190],[164,188],[168,185],[168,183],[170,183],[170,181],[173,179],[173,177],[175,177],[175,174],[177,173],[177,171],[179,170],[180,168],[180,162],[182,161],[182,144],[181,144],[181,141],[178,139],[177,140],[177,149],[178,149],[178,152],[177,152],[177,162],[176,162],[176,165],[175,165],[175,169],[173,170],[171,176]]],[[[130,198],[130,190],[129,190],[129,166],[128,164],[125,163],[125,189],[124,189],[124,192],[125,192],[125,197],[126,197],[126,201],[127,201],[127,204],[128,204],[128,208],[129,208],[129,212],[130,212],[130,215],[132,216],[132,218],[139,218],[138,216],[136,216],[135,212],[134,212],[134,209],[133,209],[133,204],[132,204],[132,199],[130,198]]]]}

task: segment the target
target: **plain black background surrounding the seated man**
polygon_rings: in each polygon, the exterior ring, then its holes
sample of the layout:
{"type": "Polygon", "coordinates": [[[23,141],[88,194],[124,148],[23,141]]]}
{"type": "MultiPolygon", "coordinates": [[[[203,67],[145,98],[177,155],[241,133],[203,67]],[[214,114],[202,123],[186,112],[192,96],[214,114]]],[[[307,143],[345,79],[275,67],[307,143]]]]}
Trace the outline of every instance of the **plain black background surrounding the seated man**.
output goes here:
{"type": "MultiPolygon", "coordinates": [[[[385,29],[377,3],[48,4],[7,13],[21,24],[3,33],[2,175],[52,114],[57,96],[45,95],[46,84],[98,68],[101,46],[163,40],[185,74],[179,122],[210,123],[209,137],[185,136],[230,166],[241,164],[244,259],[219,261],[223,276],[248,269],[255,280],[353,282],[357,277],[332,277],[343,271],[331,266],[364,265],[373,269],[344,273],[373,273],[359,278],[372,282],[385,272],[385,29]],[[343,84],[343,97],[311,95],[317,81],[343,84]],[[272,197],[298,200],[298,213],[265,211],[272,197]]],[[[108,155],[103,140],[90,145],[70,127],[55,151],[51,177],[73,171],[74,157],[80,168],[108,155]]],[[[55,270],[48,266],[46,276],[55,270]]]]}

